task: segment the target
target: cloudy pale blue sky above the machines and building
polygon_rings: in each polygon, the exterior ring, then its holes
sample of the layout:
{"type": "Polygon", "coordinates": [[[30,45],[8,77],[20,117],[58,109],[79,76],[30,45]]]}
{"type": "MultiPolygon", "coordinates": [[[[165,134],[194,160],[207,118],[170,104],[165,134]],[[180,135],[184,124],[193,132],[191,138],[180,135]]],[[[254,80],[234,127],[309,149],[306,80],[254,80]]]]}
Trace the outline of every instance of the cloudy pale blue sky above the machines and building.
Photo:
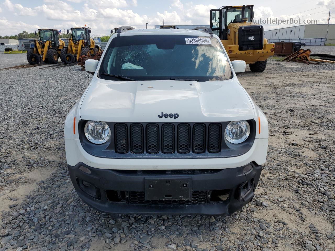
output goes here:
{"type": "MultiPolygon", "coordinates": [[[[38,28],[68,29],[87,24],[94,35],[106,35],[114,27],[135,28],[161,24],[209,24],[209,10],[222,5],[254,4],[255,19],[316,19],[326,23],[328,11],[335,23],[335,0],[306,1],[200,1],[200,0],[0,0],[0,35],[14,35],[38,28]]],[[[265,30],[292,25],[266,25],[265,30]]]]}

